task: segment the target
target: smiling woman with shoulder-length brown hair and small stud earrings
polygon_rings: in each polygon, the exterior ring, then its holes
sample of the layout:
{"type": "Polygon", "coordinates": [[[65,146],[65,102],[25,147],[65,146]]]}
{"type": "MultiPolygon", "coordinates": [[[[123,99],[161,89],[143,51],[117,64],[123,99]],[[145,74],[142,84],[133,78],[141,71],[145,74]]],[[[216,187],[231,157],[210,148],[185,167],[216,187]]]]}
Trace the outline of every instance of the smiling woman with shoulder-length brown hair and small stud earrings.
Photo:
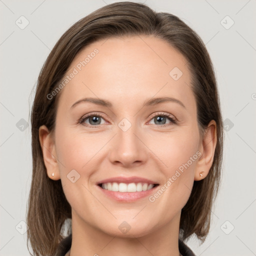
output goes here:
{"type": "Polygon", "coordinates": [[[116,2],[77,21],[42,67],[31,125],[34,255],[194,255],[222,117],[207,50],[178,17],[116,2]]]}

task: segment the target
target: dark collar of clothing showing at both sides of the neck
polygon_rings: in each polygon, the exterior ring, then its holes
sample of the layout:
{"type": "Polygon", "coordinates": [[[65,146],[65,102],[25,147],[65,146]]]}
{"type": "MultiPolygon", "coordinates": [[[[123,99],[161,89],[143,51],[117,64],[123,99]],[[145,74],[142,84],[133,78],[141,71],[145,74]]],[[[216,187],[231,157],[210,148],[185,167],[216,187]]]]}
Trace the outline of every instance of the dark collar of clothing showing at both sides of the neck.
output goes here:
{"type": "MultiPolygon", "coordinates": [[[[59,244],[60,254],[58,256],[65,256],[71,247],[72,234],[65,237],[59,244]]],[[[182,256],[195,256],[192,250],[181,240],[178,240],[178,249],[182,256]]],[[[68,255],[68,253],[67,253],[68,255]]]]}

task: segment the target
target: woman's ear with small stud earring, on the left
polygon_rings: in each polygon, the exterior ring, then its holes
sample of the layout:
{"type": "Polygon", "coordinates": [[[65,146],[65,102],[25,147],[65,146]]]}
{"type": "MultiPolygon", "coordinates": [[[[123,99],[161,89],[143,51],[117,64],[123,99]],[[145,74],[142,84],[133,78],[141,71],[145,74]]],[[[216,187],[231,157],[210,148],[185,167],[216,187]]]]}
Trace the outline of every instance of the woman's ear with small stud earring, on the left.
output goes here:
{"type": "Polygon", "coordinates": [[[60,179],[57,156],[55,151],[55,142],[52,134],[48,131],[45,125],[39,127],[39,140],[43,154],[44,165],[47,170],[47,175],[53,180],[60,179]],[[52,176],[54,173],[54,176],[52,176]]]}

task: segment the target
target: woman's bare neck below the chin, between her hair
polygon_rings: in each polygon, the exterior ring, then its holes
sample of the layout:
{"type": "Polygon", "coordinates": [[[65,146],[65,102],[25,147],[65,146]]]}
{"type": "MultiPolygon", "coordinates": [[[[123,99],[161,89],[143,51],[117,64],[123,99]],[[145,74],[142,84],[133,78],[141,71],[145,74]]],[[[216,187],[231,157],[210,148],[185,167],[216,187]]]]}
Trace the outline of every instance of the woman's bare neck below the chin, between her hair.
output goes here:
{"type": "Polygon", "coordinates": [[[72,211],[70,256],[178,256],[179,218],[180,212],[171,221],[155,227],[150,233],[142,236],[130,233],[127,237],[120,237],[84,222],[72,211]]]}

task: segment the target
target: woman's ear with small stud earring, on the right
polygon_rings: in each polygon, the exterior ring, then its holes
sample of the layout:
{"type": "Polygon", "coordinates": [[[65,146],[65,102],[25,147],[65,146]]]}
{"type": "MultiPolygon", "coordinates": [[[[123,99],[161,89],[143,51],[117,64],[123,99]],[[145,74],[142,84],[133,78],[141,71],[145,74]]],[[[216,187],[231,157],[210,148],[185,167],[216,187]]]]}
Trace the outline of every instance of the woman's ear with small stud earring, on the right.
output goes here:
{"type": "Polygon", "coordinates": [[[216,141],[216,122],[211,120],[200,142],[199,151],[201,152],[201,156],[196,164],[194,180],[201,180],[207,176],[212,165],[216,141]]]}

